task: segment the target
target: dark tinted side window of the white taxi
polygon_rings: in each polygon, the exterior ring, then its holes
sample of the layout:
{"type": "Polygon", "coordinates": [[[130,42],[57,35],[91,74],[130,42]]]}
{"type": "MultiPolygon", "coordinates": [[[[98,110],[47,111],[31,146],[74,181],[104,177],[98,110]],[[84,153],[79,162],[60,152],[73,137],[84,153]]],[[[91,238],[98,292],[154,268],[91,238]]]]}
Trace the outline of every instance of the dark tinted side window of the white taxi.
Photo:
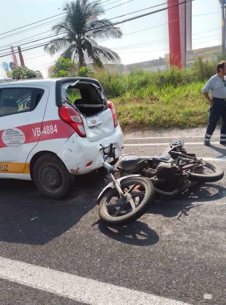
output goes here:
{"type": "Polygon", "coordinates": [[[44,90],[40,88],[2,88],[0,117],[34,110],[43,93],[44,90]]]}

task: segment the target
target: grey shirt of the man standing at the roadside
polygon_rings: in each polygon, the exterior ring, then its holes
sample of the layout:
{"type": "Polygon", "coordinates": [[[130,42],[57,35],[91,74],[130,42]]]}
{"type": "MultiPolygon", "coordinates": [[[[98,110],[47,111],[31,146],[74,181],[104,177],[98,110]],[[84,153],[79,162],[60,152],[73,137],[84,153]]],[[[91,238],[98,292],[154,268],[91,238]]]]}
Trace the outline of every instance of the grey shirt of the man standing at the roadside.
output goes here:
{"type": "Polygon", "coordinates": [[[224,87],[223,79],[219,77],[217,74],[212,76],[202,89],[202,93],[208,91],[211,91],[212,98],[213,97],[216,97],[218,99],[226,98],[226,87],[224,87]]]}

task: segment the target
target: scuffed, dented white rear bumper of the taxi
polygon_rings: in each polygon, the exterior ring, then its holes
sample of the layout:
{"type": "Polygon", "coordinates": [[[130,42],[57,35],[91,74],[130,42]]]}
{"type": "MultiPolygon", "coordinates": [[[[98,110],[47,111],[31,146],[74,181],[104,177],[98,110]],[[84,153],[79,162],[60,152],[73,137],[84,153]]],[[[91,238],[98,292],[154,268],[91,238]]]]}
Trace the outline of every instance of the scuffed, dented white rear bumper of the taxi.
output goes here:
{"type": "Polygon", "coordinates": [[[107,147],[111,143],[113,143],[113,147],[116,147],[115,157],[118,158],[124,145],[123,134],[119,124],[113,134],[94,142],[88,141],[87,138],[81,138],[74,133],[65,142],[57,155],[71,174],[87,174],[102,167],[101,145],[107,147]],[[90,165],[87,166],[87,164],[90,165]]]}

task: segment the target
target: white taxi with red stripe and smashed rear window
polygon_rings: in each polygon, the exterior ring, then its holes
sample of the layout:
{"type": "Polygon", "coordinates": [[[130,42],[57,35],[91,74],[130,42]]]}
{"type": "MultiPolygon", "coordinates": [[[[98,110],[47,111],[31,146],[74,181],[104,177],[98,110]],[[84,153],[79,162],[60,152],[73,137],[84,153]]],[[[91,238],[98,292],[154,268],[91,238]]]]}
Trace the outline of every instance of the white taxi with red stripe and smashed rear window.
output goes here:
{"type": "Polygon", "coordinates": [[[102,166],[103,147],[123,149],[115,108],[99,82],[74,77],[0,84],[0,178],[34,180],[50,198],[74,175],[102,166]]]}

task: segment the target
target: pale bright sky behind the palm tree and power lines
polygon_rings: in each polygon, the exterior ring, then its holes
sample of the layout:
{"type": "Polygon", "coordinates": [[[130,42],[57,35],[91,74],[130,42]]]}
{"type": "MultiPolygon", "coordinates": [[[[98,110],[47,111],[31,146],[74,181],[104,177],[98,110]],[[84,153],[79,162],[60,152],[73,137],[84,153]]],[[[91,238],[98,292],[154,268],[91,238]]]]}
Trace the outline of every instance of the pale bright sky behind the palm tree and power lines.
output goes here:
{"type": "MultiPolygon", "coordinates": [[[[104,2],[105,0],[102,0],[104,2]]],[[[128,0],[111,0],[103,4],[104,9],[109,9],[115,5],[119,5],[127,2],[128,0]],[[113,3],[114,2],[114,3],[113,3]]],[[[139,9],[145,9],[150,6],[158,5],[167,2],[166,0],[132,0],[129,3],[120,5],[114,9],[110,9],[104,15],[104,18],[113,18],[119,15],[130,13],[139,9]]],[[[1,18],[0,18],[0,33],[6,32],[11,29],[32,23],[50,16],[59,14],[62,12],[66,1],[62,0],[10,0],[1,1],[1,18]]],[[[166,5],[162,5],[158,8],[164,8],[166,5]]],[[[155,9],[158,9],[155,8],[155,9]]],[[[155,10],[149,9],[148,11],[155,10]]],[[[195,48],[203,48],[213,45],[219,45],[221,43],[221,8],[219,0],[194,0],[192,2],[192,46],[195,48]],[[200,16],[201,15],[201,16],[200,16]]],[[[140,12],[138,14],[141,14],[140,12]]],[[[129,15],[128,17],[135,16],[136,14],[129,15]]],[[[60,17],[60,16],[59,16],[60,17]]],[[[55,18],[59,18],[55,17],[55,18]]],[[[54,20],[53,18],[52,20],[54,20]]],[[[115,21],[123,20],[124,18],[115,19],[115,21]]],[[[48,22],[51,20],[46,20],[48,22]]],[[[123,23],[119,25],[124,34],[122,39],[118,40],[107,40],[101,41],[100,44],[107,46],[108,48],[114,49],[121,56],[123,64],[136,63],[145,60],[151,60],[164,57],[164,54],[168,53],[169,42],[168,42],[168,22],[167,10],[146,16],[137,20],[123,23]],[[164,25],[165,24],[165,25],[164,25]],[[147,28],[151,28],[144,30],[147,28]],[[139,31],[138,33],[129,34],[131,32],[139,31]],[[128,34],[128,35],[127,35],[128,34]],[[153,42],[152,42],[153,41],[153,42]],[[134,46],[147,42],[143,47],[134,46]],[[131,46],[133,45],[133,46],[131,46]]],[[[37,24],[38,25],[38,24],[37,24]]],[[[34,25],[35,26],[35,25],[34,25]]],[[[17,30],[12,33],[7,33],[0,36],[0,48],[2,46],[13,44],[21,39],[32,37],[51,30],[52,24],[46,24],[37,29],[32,29],[24,33],[15,34],[26,28],[17,30]],[[14,34],[10,37],[10,34],[14,34]],[[5,37],[5,38],[4,38],[5,37]]],[[[34,39],[38,39],[45,35],[51,35],[51,32],[35,36],[34,39]]],[[[46,40],[45,40],[46,41],[46,40]]],[[[45,42],[44,41],[44,42],[45,42]]],[[[39,42],[37,42],[39,43],[39,42]]],[[[33,43],[32,45],[34,45],[33,43]]],[[[5,48],[5,47],[4,47],[5,48]]],[[[23,46],[21,47],[23,49],[23,46]]],[[[1,53],[5,53],[2,51],[1,53]]],[[[47,76],[48,66],[54,63],[59,55],[51,57],[44,53],[43,48],[36,48],[23,52],[23,58],[25,65],[34,70],[40,70],[44,76],[47,76]],[[44,56],[45,55],[45,56],[44,56]],[[30,59],[32,57],[40,56],[37,58],[30,59]]],[[[18,56],[17,56],[18,57],[18,56]]],[[[4,75],[2,69],[2,62],[12,61],[12,56],[5,56],[0,58],[0,75],[4,75]]]]}

